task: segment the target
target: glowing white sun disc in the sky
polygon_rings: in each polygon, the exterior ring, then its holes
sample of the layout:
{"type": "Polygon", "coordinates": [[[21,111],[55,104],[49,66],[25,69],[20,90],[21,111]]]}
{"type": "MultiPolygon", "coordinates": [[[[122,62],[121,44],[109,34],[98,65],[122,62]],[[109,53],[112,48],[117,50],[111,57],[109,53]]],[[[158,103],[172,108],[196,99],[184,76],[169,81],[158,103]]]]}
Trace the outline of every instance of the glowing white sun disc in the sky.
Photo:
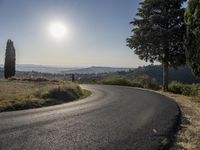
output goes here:
{"type": "Polygon", "coordinates": [[[49,31],[54,38],[61,39],[66,35],[66,26],[61,22],[51,23],[49,26],[49,31]]]}

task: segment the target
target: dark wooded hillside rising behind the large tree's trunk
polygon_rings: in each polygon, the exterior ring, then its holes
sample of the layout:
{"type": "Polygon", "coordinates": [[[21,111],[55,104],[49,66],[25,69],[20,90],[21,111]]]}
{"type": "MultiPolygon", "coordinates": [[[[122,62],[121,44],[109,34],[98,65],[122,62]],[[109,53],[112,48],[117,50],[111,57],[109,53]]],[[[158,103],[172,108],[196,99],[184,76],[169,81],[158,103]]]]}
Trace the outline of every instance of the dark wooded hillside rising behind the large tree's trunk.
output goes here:
{"type": "MultiPolygon", "coordinates": [[[[117,71],[113,73],[99,73],[99,74],[76,74],[76,77],[80,79],[80,82],[90,83],[100,80],[109,80],[113,77],[124,77],[128,79],[135,79],[137,77],[148,75],[155,79],[158,84],[162,84],[162,66],[161,65],[149,65],[144,67],[138,67],[136,69],[128,71],[117,71]]],[[[180,67],[178,69],[169,69],[169,82],[179,81],[185,84],[199,83],[200,79],[193,76],[189,67],[180,67]]]]}

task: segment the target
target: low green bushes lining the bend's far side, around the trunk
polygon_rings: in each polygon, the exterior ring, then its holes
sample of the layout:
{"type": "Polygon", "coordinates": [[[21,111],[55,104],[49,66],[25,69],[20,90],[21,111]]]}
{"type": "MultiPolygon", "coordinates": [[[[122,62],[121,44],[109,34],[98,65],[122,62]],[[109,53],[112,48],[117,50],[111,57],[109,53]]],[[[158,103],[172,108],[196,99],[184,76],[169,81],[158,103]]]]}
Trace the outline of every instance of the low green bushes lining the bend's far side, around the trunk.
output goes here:
{"type": "MultiPolygon", "coordinates": [[[[120,85],[120,86],[131,86],[138,88],[146,88],[151,90],[159,91],[162,89],[162,86],[159,85],[156,80],[152,79],[149,76],[140,76],[132,80],[125,77],[113,77],[108,80],[96,81],[97,84],[105,85],[120,85]]],[[[172,81],[169,84],[168,91],[174,94],[181,94],[185,96],[194,97],[195,100],[200,102],[200,84],[183,84],[181,82],[172,81]]]]}

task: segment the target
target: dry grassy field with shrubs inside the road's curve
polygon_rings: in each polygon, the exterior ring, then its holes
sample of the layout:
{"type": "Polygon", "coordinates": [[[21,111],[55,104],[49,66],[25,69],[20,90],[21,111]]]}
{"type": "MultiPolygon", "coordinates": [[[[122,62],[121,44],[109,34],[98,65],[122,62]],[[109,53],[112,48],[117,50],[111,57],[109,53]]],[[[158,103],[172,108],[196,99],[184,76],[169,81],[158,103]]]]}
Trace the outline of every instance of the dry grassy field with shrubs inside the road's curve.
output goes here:
{"type": "Polygon", "coordinates": [[[88,96],[75,83],[46,79],[0,81],[0,112],[66,103],[88,96]]]}

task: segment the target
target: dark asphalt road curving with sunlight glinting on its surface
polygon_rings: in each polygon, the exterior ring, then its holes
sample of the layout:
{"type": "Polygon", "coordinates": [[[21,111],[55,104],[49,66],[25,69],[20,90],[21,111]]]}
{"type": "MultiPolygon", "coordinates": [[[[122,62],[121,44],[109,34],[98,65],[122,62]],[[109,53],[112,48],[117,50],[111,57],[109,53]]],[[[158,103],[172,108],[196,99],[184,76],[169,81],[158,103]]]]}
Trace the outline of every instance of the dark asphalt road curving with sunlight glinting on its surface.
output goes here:
{"type": "Polygon", "coordinates": [[[92,95],[80,101],[0,113],[0,150],[162,149],[176,103],[135,88],[83,87],[92,95]]]}

